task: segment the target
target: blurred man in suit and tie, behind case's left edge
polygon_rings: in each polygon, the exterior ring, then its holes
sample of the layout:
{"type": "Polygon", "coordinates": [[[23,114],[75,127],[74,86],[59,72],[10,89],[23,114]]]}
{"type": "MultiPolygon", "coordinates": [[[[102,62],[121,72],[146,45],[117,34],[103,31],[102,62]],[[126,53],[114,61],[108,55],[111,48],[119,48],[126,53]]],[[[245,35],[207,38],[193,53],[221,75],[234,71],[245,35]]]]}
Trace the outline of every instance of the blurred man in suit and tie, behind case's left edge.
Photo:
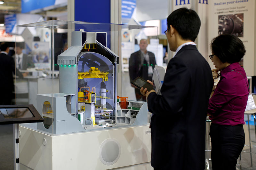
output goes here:
{"type": "Polygon", "coordinates": [[[23,43],[16,43],[14,51],[16,54],[13,56],[16,61],[16,67],[20,70],[27,70],[27,68],[35,67],[32,57],[23,53],[23,43]]]}

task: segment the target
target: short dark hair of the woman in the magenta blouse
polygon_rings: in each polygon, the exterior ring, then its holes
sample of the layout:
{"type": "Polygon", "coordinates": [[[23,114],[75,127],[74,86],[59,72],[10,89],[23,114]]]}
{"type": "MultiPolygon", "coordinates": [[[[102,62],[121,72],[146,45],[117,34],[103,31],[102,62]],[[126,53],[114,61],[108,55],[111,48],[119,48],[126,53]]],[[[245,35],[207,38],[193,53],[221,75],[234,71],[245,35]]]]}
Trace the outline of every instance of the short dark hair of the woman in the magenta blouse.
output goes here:
{"type": "Polygon", "coordinates": [[[212,39],[211,49],[223,63],[239,62],[246,52],[243,42],[232,34],[223,34],[212,39]]]}

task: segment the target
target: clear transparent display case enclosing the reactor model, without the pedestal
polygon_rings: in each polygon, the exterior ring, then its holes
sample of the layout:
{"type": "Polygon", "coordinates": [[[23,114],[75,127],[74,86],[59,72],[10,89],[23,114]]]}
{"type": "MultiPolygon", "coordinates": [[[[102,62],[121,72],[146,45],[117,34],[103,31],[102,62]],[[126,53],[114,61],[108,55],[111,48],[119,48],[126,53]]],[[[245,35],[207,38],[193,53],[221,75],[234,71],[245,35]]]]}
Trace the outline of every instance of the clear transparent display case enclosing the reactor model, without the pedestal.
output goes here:
{"type": "MultiPolygon", "coordinates": [[[[122,56],[135,51],[144,31],[157,35],[157,27],[139,25],[50,20],[16,26],[24,39],[16,48],[21,45],[26,62],[21,66],[16,50],[23,74],[15,80],[16,104],[33,104],[44,118],[22,126],[54,135],[147,124],[147,105],[122,96],[127,84],[118,81],[129,61],[122,56]]],[[[151,44],[155,56],[156,49],[151,44]]]]}

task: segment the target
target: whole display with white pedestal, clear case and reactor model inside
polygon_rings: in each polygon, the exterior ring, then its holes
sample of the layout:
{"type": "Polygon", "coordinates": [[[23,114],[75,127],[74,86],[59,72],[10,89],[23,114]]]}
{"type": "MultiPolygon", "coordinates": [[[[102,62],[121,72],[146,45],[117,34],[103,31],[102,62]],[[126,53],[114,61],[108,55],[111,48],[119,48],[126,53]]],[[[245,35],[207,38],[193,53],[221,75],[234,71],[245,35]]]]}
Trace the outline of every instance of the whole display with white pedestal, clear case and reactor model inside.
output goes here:
{"type": "Polygon", "coordinates": [[[122,31],[134,37],[145,29],[157,33],[151,26],[57,20],[16,26],[34,62],[16,77],[16,103],[34,104],[44,118],[20,125],[22,165],[151,168],[147,103],[117,94],[122,31]],[[27,83],[28,100],[19,82],[27,83]]]}

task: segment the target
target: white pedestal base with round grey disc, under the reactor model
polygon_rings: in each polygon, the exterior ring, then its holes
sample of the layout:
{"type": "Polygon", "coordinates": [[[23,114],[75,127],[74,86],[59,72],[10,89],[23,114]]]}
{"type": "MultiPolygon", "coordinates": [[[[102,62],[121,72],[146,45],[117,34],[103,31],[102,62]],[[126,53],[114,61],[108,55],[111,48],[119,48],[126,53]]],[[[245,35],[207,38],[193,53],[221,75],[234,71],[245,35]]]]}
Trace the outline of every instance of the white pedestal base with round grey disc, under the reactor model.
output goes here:
{"type": "MultiPolygon", "coordinates": [[[[20,163],[47,170],[153,169],[151,134],[146,131],[150,131],[149,125],[50,136],[20,126],[20,163]],[[104,148],[103,142],[109,138],[114,138],[120,146],[120,157],[112,165],[105,165],[100,160],[104,152],[100,148],[104,148]]],[[[105,151],[109,148],[105,147],[105,151]]],[[[116,151],[103,154],[111,158],[116,151]]]]}

